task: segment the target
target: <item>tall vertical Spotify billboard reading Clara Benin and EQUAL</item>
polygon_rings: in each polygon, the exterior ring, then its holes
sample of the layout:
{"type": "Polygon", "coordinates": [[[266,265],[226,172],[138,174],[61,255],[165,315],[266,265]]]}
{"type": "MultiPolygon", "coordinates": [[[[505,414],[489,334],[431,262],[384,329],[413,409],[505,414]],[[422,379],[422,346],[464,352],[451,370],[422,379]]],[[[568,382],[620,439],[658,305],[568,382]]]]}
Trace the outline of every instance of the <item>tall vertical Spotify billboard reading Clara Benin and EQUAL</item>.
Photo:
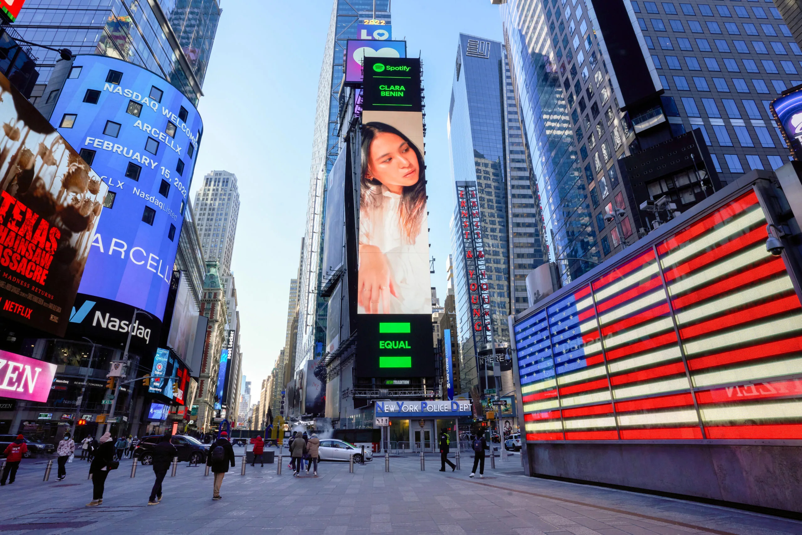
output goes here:
{"type": "Polygon", "coordinates": [[[419,59],[368,58],[359,193],[358,373],[429,377],[431,281],[423,163],[423,116],[417,106],[389,108],[377,86],[420,88],[419,59]],[[380,67],[379,67],[380,66],[380,67]]]}

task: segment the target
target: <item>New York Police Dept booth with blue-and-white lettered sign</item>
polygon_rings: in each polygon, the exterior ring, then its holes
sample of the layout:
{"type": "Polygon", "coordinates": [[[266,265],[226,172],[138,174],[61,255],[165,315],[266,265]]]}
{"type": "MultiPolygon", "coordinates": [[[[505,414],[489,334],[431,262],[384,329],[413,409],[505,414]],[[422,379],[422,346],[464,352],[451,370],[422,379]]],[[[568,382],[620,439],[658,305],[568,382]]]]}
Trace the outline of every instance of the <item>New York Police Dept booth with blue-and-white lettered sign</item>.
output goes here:
{"type": "Polygon", "coordinates": [[[439,434],[444,430],[456,450],[456,419],[471,415],[471,401],[376,401],[375,415],[390,418],[386,438],[393,450],[437,452],[439,434]]]}

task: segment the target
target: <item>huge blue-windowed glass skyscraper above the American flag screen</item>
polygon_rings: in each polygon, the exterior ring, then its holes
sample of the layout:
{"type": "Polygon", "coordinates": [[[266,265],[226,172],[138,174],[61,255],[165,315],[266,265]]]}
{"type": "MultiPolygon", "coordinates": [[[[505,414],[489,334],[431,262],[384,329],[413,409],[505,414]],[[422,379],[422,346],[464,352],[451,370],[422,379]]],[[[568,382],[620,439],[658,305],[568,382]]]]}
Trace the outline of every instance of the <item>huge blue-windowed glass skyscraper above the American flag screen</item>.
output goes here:
{"type": "Polygon", "coordinates": [[[771,2],[494,3],[564,282],[673,217],[668,202],[783,163],[768,103],[800,83],[802,51],[771,2]]]}

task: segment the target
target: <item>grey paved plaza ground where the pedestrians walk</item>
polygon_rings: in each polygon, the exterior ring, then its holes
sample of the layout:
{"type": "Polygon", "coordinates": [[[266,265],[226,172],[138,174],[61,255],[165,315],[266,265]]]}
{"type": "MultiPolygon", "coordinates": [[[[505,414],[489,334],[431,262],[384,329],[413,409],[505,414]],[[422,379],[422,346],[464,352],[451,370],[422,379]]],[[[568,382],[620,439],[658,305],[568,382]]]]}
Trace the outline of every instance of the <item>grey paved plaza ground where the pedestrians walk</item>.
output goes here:
{"type": "MultiPolygon", "coordinates": [[[[91,500],[87,464],[67,464],[67,479],[43,483],[43,464],[23,466],[17,482],[0,488],[0,531],[5,533],[148,533],[227,535],[276,533],[431,533],[461,535],[791,535],[802,522],[635,492],[529,478],[515,462],[485,465],[484,479],[468,478],[471,464],[438,472],[427,457],[383,457],[364,466],[321,463],[320,476],[292,476],[276,464],[237,467],[226,474],[221,501],[212,501],[212,476],[203,465],[180,464],[164,480],[160,505],[148,506],[152,468],[120,463],[106,483],[103,505],[91,500]]],[[[304,473],[304,472],[302,472],[304,473]]]]}

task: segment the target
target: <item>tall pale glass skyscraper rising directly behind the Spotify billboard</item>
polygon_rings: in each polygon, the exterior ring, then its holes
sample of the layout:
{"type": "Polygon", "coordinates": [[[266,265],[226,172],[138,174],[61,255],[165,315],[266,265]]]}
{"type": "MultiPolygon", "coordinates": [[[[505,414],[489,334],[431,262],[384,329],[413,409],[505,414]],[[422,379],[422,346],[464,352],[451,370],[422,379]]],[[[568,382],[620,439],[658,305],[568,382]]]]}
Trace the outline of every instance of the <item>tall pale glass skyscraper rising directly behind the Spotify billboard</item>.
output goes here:
{"type": "Polygon", "coordinates": [[[298,278],[298,357],[296,367],[306,359],[318,358],[326,343],[326,302],[318,295],[325,276],[322,270],[325,228],[326,179],[339,151],[339,91],[346,41],[358,37],[357,24],[364,19],[381,19],[390,24],[390,0],[334,0],[323,50],[318,82],[318,107],[314,120],[309,199],[306,230],[298,278]]]}

